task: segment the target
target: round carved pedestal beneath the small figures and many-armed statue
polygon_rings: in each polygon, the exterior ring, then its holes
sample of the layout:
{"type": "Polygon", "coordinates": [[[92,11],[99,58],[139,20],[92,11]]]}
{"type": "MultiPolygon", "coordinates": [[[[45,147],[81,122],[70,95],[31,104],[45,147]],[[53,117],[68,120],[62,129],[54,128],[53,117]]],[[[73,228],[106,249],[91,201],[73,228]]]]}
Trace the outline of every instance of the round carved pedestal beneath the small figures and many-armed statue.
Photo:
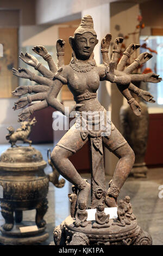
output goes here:
{"type": "Polygon", "coordinates": [[[54,229],[55,245],[152,245],[152,237],[143,231],[136,220],[120,227],[92,228],[89,223],[85,228],[75,227],[74,219],[68,216],[64,222],[54,229]]]}

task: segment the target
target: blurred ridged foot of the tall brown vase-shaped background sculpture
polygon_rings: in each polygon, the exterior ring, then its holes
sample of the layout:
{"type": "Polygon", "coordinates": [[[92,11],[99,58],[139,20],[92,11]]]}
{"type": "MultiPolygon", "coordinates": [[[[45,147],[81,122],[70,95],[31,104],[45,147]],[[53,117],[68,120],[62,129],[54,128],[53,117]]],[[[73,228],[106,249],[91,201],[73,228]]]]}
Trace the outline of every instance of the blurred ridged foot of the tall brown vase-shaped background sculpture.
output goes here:
{"type": "Polygon", "coordinates": [[[135,178],[147,178],[147,172],[148,168],[146,163],[135,163],[130,175],[134,176],[135,178]]]}

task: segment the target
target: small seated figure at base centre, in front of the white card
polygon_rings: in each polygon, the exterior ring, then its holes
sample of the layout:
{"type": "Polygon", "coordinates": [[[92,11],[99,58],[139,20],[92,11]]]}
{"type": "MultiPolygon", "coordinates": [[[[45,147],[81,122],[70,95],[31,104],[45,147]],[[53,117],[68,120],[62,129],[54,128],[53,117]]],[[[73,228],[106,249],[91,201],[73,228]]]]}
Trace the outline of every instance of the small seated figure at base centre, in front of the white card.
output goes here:
{"type": "Polygon", "coordinates": [[[106,215],[104,212],[104,204],[99,204],[97,206],[97,212],[95,214],[96,222],[93,223],[92,228],[108,228],[109,225],[109,217],[110,215],[106,215]]]}

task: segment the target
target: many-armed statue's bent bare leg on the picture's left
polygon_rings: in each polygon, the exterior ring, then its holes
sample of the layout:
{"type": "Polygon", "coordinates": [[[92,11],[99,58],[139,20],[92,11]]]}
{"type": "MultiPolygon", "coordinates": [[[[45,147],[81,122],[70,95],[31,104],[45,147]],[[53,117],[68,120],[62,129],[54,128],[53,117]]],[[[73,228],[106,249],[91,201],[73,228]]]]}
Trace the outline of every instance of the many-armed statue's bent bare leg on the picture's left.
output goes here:
{"type": "MultiPolygon", "coordinates": [[[[68,158],[81,149],[87,140],[88,138],[83,139],[81,137],[80,131],[76,129],[76,125],[74,124],[60,139],[51,154],[51,161],[55,168],[57,168],[58,172],[64,176],[66,180],[78,187],[78,203],[87,203],[90,184],[82,179],[68,158]]],[[[83,160],[81,159],[81,161],[83,160]]]]}

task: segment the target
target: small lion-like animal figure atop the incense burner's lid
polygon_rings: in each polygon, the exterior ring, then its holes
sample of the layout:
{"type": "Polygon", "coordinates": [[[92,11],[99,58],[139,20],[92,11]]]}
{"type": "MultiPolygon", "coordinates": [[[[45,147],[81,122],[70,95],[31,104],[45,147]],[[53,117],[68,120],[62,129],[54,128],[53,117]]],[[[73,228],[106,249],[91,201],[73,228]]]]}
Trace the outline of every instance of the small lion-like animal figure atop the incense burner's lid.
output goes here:
{"type": "Polygon", "coordinates": [[[11,147],[18,147],[16,145],[17,141],[23,141],[23,143],[29,143],[31,146],[32,141],[29,141],[28,137],[30,135],[32,126],[35,125],[36,119],[35,117],[32,120],[24,121],[21,123],[21,127],[14,131],[14,127],[9,126],[7,129],[9,134],[6,136],[6,139],[11,143],[11,147]]]}

